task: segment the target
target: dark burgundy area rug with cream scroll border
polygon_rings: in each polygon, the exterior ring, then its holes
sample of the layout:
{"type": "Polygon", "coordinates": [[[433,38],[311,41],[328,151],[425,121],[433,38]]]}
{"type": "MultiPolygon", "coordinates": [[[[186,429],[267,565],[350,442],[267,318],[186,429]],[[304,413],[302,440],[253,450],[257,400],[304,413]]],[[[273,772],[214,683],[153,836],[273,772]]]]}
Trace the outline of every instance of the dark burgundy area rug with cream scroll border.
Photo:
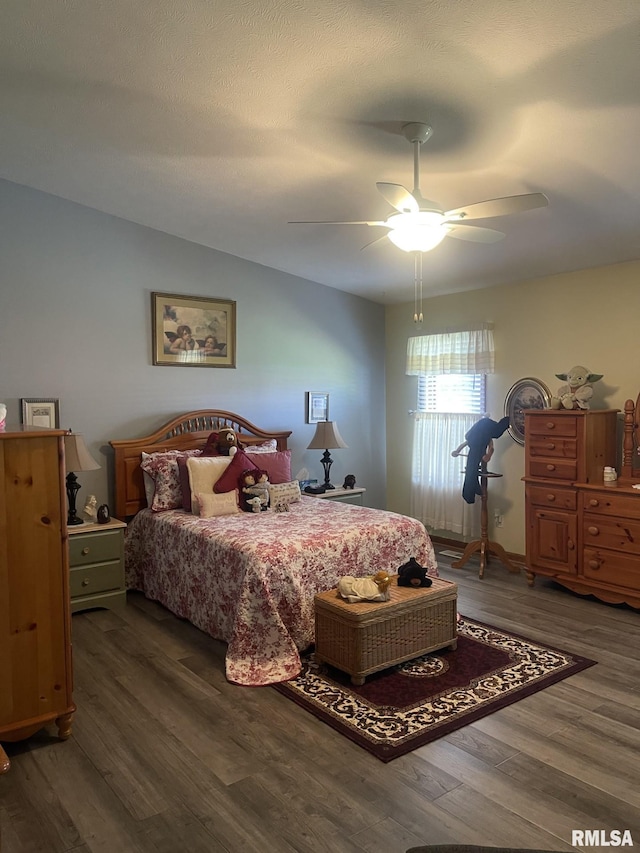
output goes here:
{"type": "Polygon", "coordinates": [[[274,687],[386,762],[595,663],[461,617],[457,649],[374,673],[361,687],[312,653],[297,678],[274,687]]]}

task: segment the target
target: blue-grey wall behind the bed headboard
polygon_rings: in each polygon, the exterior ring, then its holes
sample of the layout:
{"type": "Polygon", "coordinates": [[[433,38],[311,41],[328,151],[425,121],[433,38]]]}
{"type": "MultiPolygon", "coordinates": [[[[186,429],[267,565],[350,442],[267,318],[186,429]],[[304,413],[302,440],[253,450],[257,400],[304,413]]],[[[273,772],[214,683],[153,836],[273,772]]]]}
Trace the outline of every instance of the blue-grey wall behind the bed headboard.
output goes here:
{"type": "Polygon", "coordinates": [[[59,398],[61,426],[103,466],[78,477],[79,507],[112,502],[109,439],[207,407],[292,429],[294,474],[322,481],[309,390],[329,393],[349,445],[333,482],[355,473],[383,507],[383,335],[380,305],[0,181],[0,400],[15,423],[20,398],[59,398]],[[235,300],[236,369],[153,366],[152,291],[235,300]]]}

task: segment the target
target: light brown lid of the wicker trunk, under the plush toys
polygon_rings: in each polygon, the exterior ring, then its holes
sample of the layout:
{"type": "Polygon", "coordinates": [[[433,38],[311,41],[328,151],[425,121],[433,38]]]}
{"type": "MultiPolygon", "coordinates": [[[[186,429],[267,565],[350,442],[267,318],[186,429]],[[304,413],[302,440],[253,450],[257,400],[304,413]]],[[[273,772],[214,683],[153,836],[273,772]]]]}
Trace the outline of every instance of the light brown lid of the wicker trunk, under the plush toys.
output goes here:
{"type": "Polygon", "coordinates": [[[390,615],[390,611],[400,614],[419,604],[435,604],[445,599],[457,598],[458,585],[453,581],[432,578],[432,586],[415,588],[398,586],[397,577],[394,575],[392,578],[389,601],[356,601],[351,604],[340,596],[337,589],[330,589],[315,596],[316,610],[329,611],[335,616],[340,616],[341,619],[353,622],[366,622],[382,613],[387,616],[390,615]]]}

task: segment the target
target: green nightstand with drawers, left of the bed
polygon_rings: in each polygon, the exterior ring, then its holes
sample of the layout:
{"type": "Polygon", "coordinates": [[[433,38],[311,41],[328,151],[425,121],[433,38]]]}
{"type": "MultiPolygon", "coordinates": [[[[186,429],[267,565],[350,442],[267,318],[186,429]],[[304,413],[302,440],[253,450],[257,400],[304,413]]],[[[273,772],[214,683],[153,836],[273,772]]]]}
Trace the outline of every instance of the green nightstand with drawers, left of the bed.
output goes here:
{"type": "Polygon", "coordinates": [[[126,527],[124,522],[112,519],[106,524],[87,522],[67,528],[72,613],[126,604],[126,527]]]}

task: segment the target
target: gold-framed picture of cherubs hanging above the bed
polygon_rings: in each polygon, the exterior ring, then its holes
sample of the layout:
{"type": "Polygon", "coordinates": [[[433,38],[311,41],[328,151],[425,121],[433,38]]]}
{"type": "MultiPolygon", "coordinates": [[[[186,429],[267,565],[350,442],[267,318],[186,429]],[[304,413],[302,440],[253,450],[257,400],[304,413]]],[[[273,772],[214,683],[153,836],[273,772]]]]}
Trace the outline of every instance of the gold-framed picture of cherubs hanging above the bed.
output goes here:
{"type": "Polygon", "coordinates": [[[153,363],[236,366],[236,303],[206,296],[151,294],[153,363]]]}

